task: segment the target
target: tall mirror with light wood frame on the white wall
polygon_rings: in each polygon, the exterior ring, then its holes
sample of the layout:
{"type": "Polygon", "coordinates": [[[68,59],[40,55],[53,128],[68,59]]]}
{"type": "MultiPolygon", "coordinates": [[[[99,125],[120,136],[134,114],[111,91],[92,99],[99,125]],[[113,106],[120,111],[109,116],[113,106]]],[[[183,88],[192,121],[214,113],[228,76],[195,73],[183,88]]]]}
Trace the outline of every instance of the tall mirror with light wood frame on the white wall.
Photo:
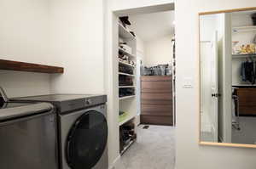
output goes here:
{"type": "Polygon", "coordinates": [[[256,8],[199,18],[200,144],[256,148],[256,8]]]}

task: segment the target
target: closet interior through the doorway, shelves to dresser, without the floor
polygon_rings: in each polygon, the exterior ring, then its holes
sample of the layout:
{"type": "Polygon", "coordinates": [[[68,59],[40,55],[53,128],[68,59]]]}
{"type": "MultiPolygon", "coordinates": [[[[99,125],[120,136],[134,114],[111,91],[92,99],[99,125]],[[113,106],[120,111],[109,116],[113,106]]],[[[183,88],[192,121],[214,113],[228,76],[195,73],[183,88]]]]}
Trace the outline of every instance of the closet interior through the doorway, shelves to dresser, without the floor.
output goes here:
{"type": "Polygon", "coordinates": [[[137,141],[140,125],[175,125],[173,21],[173,11],[118,19],[120,155],[137,141]]]}

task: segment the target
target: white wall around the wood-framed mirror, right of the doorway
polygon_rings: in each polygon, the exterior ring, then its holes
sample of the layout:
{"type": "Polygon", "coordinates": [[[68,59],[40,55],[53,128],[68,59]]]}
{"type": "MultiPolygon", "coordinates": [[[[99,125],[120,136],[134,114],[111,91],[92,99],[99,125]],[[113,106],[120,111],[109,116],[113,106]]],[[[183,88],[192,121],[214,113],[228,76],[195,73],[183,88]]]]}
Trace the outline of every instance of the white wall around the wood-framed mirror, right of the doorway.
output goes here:
{"type": "Polygon", "coordinates": [[[255,7],[254,0],[177,0],[177,169],[254,169],[256,149],[201,146],[199,138],[199,20],[198,13],[255,7]],[[189,29],[188,29],[189,25],[189,29]],[[193,88],[183,88],[192,77],[193,88]]]}

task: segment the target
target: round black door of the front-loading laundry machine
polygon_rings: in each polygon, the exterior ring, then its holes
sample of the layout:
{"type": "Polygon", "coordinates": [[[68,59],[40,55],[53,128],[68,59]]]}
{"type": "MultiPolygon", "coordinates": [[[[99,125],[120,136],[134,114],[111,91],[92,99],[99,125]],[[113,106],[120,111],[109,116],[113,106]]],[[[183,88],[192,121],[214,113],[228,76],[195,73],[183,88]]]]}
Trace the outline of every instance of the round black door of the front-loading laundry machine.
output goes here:
{"type": "Polygon", "coordinates": [[[91,169],[101,159],[108,142],[108,124],[102,113],[90,110],[75,121],[66,144],[67,165],[91,169]]]}

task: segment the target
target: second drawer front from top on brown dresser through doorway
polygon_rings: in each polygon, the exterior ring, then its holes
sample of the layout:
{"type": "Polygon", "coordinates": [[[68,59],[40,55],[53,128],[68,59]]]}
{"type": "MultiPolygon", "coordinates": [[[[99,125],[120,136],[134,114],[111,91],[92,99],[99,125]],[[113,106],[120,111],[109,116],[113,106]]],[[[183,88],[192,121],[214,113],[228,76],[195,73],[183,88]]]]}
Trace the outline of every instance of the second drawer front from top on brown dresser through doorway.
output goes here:
{"type": "Polygon", "coordinates": [[[142,82],[142,93],[172,93],[172,82],[142,82]]]}

